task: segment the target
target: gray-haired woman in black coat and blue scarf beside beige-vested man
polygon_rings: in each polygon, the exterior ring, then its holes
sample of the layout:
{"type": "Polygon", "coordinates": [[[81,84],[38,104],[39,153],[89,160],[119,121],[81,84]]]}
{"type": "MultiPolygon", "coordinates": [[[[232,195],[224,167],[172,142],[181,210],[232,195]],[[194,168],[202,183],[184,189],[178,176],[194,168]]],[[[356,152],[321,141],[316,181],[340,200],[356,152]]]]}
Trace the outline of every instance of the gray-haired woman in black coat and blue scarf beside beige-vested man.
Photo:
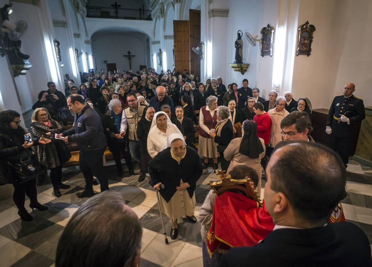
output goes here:
{"type": "Polygon", "coordinates": [[[112,152],[114,157],[116,169],[118,170],[118,176],[123,178],[121,154],[123,154],[129,174],[134,174],[132,157],[127,149],[128,144],[126,142],[126,137],[123,138],[120,136],[121,119],[122,116],[125,116],[125,112],[123,112],[121,101],[119,99],[110,100],[108,107],[108,112],[105,112],[101,118],[103,132],[106,135],[109,150],[112,152]]]}

